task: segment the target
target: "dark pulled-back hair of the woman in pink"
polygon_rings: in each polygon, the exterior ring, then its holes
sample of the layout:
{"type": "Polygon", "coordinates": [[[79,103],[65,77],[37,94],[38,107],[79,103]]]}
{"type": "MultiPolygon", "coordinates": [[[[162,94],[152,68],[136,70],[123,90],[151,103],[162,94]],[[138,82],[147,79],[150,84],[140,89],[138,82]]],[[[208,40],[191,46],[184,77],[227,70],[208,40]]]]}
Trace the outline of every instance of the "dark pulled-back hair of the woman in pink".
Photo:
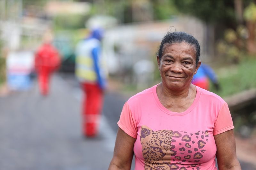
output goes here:
{"type": "Polygon", "coordinates": [[[200,46],[198,41],[196,40],[195,37],[193,37],[192,35],[188,34],[188,33],[184,33],[184,32],[168,32],[166,33],[166,35],[164,36],[160,46],[159,46],[159,50],[157,55],[159,56],[159,60],[161,60],[161,57],[163,55],[164,52],[164,48],[166,44],[175,44],[175,43],[181,43],[181,42],[186,42],[189,45],[193,46],[195,49],[195,53],[196,53],[196,65],[199,61],[199,56],[200,56],[200,46]]]}

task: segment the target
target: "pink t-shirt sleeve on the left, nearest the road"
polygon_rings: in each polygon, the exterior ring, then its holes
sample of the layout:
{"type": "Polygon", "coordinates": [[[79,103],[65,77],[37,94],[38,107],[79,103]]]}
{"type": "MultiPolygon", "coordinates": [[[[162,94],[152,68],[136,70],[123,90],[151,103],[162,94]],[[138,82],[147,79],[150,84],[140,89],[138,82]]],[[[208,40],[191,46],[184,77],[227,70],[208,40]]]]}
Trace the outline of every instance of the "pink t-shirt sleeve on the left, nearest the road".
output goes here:
{"type": "Polygon", "coordinates": [[[124,130],[129,136],[137,138],[137,125],[136,121],[132,116],[132,111],[126,102],[120,115],[120,119],[117,122],[119,128],[124,130]]]}

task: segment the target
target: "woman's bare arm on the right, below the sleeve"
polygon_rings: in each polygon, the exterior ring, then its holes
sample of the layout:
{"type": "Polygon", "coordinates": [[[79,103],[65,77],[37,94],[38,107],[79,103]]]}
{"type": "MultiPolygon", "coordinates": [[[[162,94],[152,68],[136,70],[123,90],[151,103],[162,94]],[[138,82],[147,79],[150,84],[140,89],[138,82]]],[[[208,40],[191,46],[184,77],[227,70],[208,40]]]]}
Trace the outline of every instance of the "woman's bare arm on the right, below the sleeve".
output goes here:
{"type": "Polygon", "coordinates": [[[236,140],[234,130],[228,130],[214,136],[217,146],[217,161],[219,170],[241,170],[236,158],[236,140]]]}

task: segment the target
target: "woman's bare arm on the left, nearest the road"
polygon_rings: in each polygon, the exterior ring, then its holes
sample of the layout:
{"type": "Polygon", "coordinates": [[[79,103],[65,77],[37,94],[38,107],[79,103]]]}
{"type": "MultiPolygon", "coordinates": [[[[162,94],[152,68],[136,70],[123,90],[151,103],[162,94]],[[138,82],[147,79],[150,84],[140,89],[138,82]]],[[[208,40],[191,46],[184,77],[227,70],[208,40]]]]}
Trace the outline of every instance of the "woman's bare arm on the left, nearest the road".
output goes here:
{"type": "Polygon", "coordinates": [[[118,128],[114,155],[110,162],[108,170],[131,169],[133,145],[135,141],[135,138],[127,135],[124,130],[118,128]]]}

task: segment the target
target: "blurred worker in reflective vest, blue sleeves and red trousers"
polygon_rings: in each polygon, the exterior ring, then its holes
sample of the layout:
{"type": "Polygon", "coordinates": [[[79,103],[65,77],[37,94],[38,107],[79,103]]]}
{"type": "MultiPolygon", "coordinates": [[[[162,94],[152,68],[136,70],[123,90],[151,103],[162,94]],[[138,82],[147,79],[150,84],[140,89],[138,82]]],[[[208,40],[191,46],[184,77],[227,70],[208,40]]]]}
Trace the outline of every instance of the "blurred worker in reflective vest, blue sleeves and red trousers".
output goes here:
{"type": "Polygon", "coordinates": [[[85,137],[98,134],[106,88],[107,71],[101,55],[103,30],[93,29],[88,38],[76,46],[76,77],[84,92],[82,106],[82,130],[85,137]]]}

